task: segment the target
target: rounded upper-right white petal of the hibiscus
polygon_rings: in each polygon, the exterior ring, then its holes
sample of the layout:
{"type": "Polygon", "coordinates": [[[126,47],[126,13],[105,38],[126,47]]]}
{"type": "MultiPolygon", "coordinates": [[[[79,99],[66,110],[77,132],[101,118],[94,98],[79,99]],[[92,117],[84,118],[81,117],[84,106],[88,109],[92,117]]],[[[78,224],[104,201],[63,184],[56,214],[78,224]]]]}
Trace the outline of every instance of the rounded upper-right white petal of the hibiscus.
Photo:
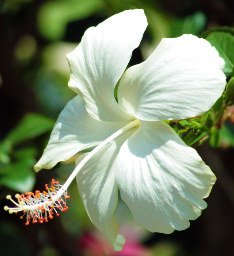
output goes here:
{"type": "Polygon", "coordinates": [[[224,64],[203,38],[163,38],[146,61],[125,72],[118,87],[118,102],[141,120],[197,116],[223,93],[224,64]]]}

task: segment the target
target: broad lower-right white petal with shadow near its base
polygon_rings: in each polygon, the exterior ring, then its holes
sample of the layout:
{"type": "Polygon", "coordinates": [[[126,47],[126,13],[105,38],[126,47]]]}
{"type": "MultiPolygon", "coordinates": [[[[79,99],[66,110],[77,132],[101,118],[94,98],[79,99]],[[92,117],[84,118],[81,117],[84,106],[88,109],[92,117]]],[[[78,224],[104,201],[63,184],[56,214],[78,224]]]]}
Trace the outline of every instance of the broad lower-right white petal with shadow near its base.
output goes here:
{"type": "Polygon", "coordinates": [[[141,121],[116,159],[121,198],[137,224],[151,232],[171,233],[207,207],[203,198],[216,177],[197,152],[162,121],[141,121]]]}

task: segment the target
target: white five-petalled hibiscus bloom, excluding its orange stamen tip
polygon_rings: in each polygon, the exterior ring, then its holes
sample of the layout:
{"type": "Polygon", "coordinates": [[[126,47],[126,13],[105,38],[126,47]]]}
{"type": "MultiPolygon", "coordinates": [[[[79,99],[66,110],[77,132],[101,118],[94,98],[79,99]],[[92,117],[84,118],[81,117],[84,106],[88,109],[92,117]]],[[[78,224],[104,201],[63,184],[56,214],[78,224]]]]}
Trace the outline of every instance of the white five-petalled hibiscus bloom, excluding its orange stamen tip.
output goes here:
{"type": "Polygon", "coordinates": [[[224,61],[206,40],[182,35],[163,38],[146,61],[125,71],[146,27],[143,10],[128,10],[85,32],[67,55],[69,87],[78,96],[61,112],[35,165],[50,169],[99,144],[78,158],[63,188],[76,177],[88,216],[116,250],[125,241],[113,218],[118,189],[139,226],[169,234],[200,216],[216,180],[162,120],[210,109],[226,84],[224,61]]]}

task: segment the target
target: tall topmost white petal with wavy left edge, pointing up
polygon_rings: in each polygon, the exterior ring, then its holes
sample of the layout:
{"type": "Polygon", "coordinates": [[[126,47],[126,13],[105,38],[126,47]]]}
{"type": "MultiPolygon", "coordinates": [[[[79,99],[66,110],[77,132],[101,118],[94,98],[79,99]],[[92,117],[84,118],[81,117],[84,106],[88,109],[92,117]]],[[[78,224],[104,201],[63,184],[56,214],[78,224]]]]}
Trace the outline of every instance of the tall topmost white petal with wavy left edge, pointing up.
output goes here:
{"type": "Polygon", "coordinates": [[[147,26],[143,10],[116,14],[84,33],[78,47],[67,55],[69,87],[85,102],[88,112],[103,121],[122,122],[131,116],[114,99],[114,87],[139,46],[147,26]]]}

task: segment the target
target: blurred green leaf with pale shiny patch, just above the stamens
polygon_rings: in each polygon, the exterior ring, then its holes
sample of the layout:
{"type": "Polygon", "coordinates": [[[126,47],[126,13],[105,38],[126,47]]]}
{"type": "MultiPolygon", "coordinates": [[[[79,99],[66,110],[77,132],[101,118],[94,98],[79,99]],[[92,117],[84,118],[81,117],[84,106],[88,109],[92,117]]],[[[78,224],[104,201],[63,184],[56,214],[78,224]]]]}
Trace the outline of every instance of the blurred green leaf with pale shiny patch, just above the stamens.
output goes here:
{"type": "Polygon", "coordinates": [[[35,159],[27,157],[16,163],[1,167],[0,185],[22,193],[30,191],[35,184],[34,164],[35,159]]]}

